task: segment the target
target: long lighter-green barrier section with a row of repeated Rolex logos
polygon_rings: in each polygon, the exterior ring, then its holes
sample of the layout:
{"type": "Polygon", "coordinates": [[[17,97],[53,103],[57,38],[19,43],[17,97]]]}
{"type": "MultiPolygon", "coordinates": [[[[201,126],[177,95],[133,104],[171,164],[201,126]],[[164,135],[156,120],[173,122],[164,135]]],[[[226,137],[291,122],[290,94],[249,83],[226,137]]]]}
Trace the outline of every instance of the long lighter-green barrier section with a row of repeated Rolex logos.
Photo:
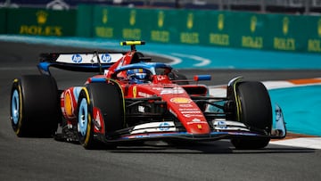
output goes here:
{"type": "Polygon", "coordinates": [[[92,26],[78,36],[321,53],[319,16],[84,6],[78,17],[92,12],[92,26]]]}

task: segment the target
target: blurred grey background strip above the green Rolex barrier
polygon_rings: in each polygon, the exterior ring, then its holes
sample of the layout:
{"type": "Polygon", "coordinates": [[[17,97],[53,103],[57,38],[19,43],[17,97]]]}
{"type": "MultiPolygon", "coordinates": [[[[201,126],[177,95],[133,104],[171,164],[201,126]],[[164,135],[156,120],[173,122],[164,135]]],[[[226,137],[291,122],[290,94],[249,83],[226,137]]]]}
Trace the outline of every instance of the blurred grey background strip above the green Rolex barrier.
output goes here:
{"type": "Polygon", "coordinates": [[[321,0],[1,0],[2,7],[75,9],[78,4],[313,14],[321,0]]]}

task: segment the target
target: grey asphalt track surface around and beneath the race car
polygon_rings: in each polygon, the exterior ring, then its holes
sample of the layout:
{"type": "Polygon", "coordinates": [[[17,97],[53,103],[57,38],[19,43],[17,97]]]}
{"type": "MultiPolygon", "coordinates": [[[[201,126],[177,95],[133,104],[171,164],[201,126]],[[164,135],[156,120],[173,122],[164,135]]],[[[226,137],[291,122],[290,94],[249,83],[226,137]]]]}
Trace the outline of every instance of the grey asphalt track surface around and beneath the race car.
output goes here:
{"type": "MultiPolygon", "coordinates": [[[[37,74],[39,53],[81,51],[0,42],[0,180],[321,180],[321,150],[269,144],[235,150],[228,141],[170,146],[149,143],[88,151],[52,138],[18,138],[9,119],[12,79],[37,74]]],[[[87,52],[87,51],[86,51],[87,52]]],[[[154,57],[157,59],[157,57],[154,57]]],[[[212,74],[209,85],[235,76],[251,80],[317,78],[319,70],[182,70],[212,74]]],[[[83,84],[88,75],[55,72],[58,85],[83,84]]]]}

